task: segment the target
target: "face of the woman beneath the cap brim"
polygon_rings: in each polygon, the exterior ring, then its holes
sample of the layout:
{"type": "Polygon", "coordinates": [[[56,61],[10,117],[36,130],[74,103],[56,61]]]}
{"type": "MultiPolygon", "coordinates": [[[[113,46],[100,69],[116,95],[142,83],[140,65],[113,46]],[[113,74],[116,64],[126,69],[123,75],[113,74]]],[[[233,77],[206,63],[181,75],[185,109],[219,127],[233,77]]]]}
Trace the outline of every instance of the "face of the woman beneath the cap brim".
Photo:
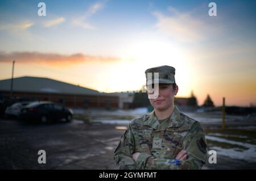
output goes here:
{"type": "MultiPolygon", "coordinates": [[[[152,85],[152,88],[154,85],[152,85]]],[[[155,110],[164,111],[174,106],[174,96],[177,94],[178,87],[173,88],[172,84],[159,84],[159,95],[156,99],[150,99],[150,104],[155,110]]],[[[152,92],[154,94],[154,92],[152,92]]]]}

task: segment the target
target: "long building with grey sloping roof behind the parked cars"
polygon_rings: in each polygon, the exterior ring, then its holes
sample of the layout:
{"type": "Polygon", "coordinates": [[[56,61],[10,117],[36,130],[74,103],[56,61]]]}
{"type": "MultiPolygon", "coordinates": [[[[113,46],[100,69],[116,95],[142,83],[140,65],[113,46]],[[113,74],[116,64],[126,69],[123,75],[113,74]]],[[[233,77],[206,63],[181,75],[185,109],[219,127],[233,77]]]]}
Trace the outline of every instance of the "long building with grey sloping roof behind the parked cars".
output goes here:
{"type": "MultiPolygon", "coordinates": [[[[0,100],[9,98],[11,79],[0,81],[0,100]]],[[[118,108],[119,97],[108,93],[42,77],[13,79],[13,97],[49,100],[69,107],[118,108]]]]}

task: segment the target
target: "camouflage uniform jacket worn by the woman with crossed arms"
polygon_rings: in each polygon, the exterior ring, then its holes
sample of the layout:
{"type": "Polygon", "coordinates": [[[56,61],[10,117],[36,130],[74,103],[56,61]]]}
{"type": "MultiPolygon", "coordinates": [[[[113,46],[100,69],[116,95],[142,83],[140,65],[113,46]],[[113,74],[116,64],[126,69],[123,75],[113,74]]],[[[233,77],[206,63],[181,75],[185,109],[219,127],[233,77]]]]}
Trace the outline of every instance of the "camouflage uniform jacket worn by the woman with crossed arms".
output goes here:
{"type": "Polygon", "coordinates": [[[119,169],[201,169],[206,159],[203,129],[176,106],[170,118],[161,124],[154,111],[135,118],[114,151],[119,169]],[[179,165],[172,162],[183,149],[187,151],[187,159],[179,165]],[[132,159],[135,152],[141,152],[136,162],[132,159]]]}

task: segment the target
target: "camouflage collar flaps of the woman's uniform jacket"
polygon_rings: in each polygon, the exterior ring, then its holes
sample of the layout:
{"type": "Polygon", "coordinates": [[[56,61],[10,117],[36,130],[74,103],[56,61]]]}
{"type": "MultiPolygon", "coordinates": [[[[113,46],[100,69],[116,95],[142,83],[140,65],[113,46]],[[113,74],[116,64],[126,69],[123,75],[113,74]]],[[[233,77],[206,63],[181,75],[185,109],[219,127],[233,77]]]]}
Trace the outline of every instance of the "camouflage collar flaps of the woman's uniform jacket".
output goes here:
{"type": "MultiPolygon", "coordinates": [[[[174,106],[174,111],[172,112],[172,115],[170,117],[168,128],[170,128],[170,127],[172,127],[172,128],[181,127],[181,125],[183,125],[183,123],[184,123],[184,120],[180,119],[179,109],[176,106],[174,106]]],[[[158,119],[155,116],[155,110],[153,110],[150,113],[150,118],[146,121],[146,123],[144,123],[144,125],[148,125],[148,126],[150,126],[151,128],[154,128],[154,129],[159,128],[160,123],[159,123],[158,119]]]]}

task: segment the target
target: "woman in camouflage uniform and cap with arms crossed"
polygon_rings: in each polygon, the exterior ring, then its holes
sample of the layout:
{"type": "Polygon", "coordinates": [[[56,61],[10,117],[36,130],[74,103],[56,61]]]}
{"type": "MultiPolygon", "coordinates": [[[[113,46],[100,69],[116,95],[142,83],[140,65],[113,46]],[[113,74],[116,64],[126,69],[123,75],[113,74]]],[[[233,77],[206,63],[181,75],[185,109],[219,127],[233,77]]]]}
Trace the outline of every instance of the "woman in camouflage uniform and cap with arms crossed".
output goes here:
{"type": "Polygon", "coordinates": [[[114,151],[119,169],[201,169],[207,159],[205,133],[196,120],[174,106],[179,87],[175,68],[159,66],[145,71],[148,97],[154,111],[135,118],[114,151]],[[158,73],[158,79],[147,76],[158,73]],[[151,90],[152,90],[151,89],[151,90]],[[152,96],[155,92],[158,95],[152,96]]]}

